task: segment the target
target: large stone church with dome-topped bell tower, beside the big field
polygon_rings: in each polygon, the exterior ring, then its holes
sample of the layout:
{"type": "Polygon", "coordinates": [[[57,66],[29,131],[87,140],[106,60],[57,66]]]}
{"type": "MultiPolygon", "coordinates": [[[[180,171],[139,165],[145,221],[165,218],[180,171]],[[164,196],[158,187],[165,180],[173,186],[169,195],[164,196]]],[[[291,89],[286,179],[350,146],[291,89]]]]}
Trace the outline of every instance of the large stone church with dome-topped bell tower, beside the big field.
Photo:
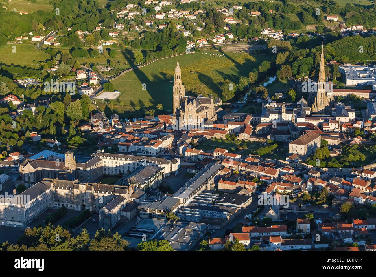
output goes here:
{"type": "Polygon", "coordinates": [[[195,129],[206,120],[217,120],[212,97],[185,96],[179,62],[175,67],[172,110],[173,122],[178,121],[179,129],[195,129]]]}

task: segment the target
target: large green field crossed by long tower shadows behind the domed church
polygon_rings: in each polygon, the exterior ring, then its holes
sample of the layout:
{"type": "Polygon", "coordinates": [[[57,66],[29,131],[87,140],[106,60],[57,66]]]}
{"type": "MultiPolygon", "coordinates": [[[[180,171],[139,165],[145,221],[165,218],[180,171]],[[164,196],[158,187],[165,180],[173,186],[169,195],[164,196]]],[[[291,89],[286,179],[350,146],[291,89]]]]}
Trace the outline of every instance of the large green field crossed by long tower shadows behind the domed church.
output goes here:
{"type": "MultiPolygon", "coordinates": [[[[120,116],[128,116],[135,112],[133,109],[135,105],[139,105],[142,110],[162,104],[165,112],[171,112],[173,82],[167,80],[167,77],[174,75],[177,61],[182,69],[186,95],[190,94],[188,93],[190,88],[196,84],[205,84],[214,92],[214,96],[221,96],[220,87],[225,80],[238,83],[241,76],[247,77],[250,71],[269,58],[265,55],[203,51],[158,60],[148,66],[127,72],[112,81],[115,89],[121,92],[119,101],[124,102],[124,106],[120,106],[113,100],[115,104],[113,109],[120,116]],[[224,54],[224,57],[209,55],[209,53],[224,54]],[[146,90],[143,90],[143,87],[146,90]]],[[[99,103],[99,107],[104,108],[105,104],[99,103]]],[[[105,112],[111,111],[106,108],[105,112]]]]}

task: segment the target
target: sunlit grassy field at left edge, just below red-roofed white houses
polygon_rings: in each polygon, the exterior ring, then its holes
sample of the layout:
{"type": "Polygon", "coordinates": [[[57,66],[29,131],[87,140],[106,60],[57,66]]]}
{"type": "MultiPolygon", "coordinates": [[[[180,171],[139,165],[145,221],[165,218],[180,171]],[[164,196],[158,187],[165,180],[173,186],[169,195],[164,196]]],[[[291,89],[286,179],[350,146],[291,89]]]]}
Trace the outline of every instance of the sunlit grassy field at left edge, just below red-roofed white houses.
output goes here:
{"type": "Polygon", "coordinates": [[[33,61],[45,61],[49,58],[49,54],[36,49],[33,45],[6,44],[0,47],[0,61],[3,64],[39,67],[33,61]],[[13,46],[16,47],[15,53],[12,52],[13,46]]]}

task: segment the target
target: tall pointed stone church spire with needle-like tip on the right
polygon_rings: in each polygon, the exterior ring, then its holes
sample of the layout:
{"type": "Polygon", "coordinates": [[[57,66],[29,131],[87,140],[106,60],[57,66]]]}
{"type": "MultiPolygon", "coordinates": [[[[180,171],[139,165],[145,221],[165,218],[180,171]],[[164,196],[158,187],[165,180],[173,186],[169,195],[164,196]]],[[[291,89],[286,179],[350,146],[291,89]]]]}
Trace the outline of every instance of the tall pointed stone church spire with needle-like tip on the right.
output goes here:
{"type": "Polygon", "coordinates": [[[328,113],[330,109],[330,102],[332,100],[332,91],[328,90],[328,85],[325,82],[324,69],[324,45],[321,46],[321,60],[320,69],[318,71],[318,82],[316,91],[310,92],[311,111],[316,113],[328,113]]]}

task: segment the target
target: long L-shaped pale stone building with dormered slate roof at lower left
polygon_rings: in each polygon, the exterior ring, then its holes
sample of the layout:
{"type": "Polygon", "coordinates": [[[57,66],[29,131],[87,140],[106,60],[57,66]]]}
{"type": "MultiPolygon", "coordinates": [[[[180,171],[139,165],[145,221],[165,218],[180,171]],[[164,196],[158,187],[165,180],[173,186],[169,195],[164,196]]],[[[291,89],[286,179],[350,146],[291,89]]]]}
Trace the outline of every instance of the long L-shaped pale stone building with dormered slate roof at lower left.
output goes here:
{"type": "MultiPolygon", "coordinates": [[[[2,198],[0,223],[5,226],[24,227],[52,207],[65,206],[67,210],[87,209],[99,213],[102,207],[113,205],[114,199],[123,199],[122,202],[130,203],[133,192],[133,186],[43,179],[20,193],[17,200],[2,198]]],[[[104,227],[108,226],[106,218],[103,217],[101,221],[104,227]]],[[[110,224],[111,226],[113,225],[110,224]]]]}

